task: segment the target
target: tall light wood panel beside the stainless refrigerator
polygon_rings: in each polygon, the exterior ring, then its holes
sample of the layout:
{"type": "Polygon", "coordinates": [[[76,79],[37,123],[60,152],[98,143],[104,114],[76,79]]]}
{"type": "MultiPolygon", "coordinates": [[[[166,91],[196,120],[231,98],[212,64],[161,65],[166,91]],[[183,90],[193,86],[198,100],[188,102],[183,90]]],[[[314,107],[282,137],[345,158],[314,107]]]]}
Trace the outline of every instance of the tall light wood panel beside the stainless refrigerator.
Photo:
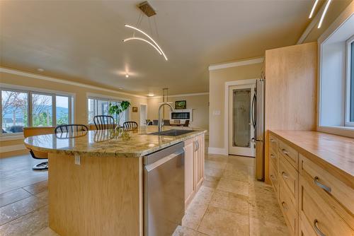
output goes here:
{"type": "Polygon", "coordinates": [[[265,182],[269,129],[316,129],[317,43],[265,51],[265,182]]]}

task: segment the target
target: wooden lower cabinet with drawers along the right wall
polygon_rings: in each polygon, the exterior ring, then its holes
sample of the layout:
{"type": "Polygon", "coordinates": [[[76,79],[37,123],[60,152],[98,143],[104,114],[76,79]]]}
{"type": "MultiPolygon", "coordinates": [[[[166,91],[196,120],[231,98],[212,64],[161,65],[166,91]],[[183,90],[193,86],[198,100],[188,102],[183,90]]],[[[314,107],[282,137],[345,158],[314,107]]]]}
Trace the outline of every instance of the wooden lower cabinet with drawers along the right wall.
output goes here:
{"type": "Polygon", "coordinates": [[[309,160],[301,149],[274,135],[270,138],[278,143],[278,153],[274,145],[269,153],[278,158],[278,172],[270,160],[270,180],[290,235],[354,236],[354,189],[309,160]]]}

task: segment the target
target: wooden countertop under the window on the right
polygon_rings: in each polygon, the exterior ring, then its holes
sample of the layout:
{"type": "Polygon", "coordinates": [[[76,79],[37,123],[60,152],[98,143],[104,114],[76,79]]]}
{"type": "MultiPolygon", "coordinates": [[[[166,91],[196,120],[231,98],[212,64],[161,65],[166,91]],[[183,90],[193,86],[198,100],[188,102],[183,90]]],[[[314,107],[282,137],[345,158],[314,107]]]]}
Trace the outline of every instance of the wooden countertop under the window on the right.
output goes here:
{"type": "Polygon", "coordinates": [[[354,187],[354,138],[317,131],[270,131],[324,170],[354,187]]]}

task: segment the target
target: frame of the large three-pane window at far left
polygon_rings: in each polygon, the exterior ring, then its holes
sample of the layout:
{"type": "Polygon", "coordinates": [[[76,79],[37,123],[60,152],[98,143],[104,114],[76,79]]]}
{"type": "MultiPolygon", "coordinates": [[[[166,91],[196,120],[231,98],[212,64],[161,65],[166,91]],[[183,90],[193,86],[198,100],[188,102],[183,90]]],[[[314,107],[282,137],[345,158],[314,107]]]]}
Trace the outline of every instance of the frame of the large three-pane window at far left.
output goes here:
{"type": "MultiPolygon", "coordinates": [[[[2,128],[2,96],[1,93],[2,91],[13,91],[13,92],[18,92],[18,93],[27,93],[28,95],[28,104],[27,104],[27,112],[28,112],[28,120],[27,120],[27,126],[33,126],[33,111],[32,111],[32,96],[33,94],[37,95],[50,95],[52,97],[52,126],[57,125],[57,117],[56,117],[56,102],[57,98],[56,96],[62,96],[62,97],[67,97],[68,98],[68,112],[69,112],[69,123],[74,122],[74,100],[75,100],[75,94],[74,93],[65,93],[61,91],[56,91],[56,90],[45,90],[41,88],[31,88],[27,86],[19,86],[19,85],[8,85],[8,84],[3,84],[0,83],[0,124],[2,128]]],[[[47,126],[46,126],[47,127],[47,126]]],[[[5,138],[5,137],[13,137],[13,136],[23,136],[23,132],[18,132],[18,133],[6,133],[3,134],[2,131],[0,132],[0,138],[5,138]]]]}

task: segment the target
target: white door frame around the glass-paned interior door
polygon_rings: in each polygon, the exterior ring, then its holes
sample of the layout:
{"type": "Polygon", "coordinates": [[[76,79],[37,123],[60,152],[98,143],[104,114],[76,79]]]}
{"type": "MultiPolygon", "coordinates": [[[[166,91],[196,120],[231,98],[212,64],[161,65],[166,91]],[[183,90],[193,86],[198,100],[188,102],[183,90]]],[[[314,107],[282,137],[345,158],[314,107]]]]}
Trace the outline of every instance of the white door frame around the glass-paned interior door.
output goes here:
{"type": "Polygon", "coordinates": [[[255,85],[256,78],[250,78],[243,81],[229,81],[225,82],[225,102],[224,102],[224,150],[225,155],[229,155],[229,87],[234,85],[255,85]]]}

